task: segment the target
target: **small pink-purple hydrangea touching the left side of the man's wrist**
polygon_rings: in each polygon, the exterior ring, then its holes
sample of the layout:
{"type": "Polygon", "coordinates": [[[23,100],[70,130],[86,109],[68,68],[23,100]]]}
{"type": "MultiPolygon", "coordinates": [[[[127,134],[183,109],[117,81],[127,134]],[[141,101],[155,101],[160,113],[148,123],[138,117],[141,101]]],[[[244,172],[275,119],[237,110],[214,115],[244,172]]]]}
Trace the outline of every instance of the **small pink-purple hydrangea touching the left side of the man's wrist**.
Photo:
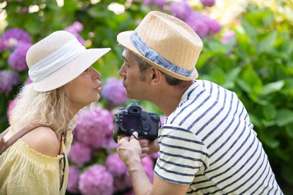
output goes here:
{"type": "Polygon", "coordinates": [[[105,166],[107,171],[114,177],[124,176],[127,171],[127,168],[124,162],[119,158],[118,153],[109,155],[105,161],[105,166]]]}

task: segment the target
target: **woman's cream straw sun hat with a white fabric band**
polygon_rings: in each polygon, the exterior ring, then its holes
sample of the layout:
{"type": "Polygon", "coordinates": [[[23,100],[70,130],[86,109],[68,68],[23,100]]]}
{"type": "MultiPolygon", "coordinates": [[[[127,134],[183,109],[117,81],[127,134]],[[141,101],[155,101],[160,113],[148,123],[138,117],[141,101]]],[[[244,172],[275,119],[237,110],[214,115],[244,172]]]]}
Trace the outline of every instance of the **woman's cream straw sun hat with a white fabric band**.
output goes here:
{"type": "Polygon", "coordinates": [[[26,54],[34,90],[57,89],[81,75],[110,48],[85,49],[69,32],[56,31],[34,44],[26,54]]]}

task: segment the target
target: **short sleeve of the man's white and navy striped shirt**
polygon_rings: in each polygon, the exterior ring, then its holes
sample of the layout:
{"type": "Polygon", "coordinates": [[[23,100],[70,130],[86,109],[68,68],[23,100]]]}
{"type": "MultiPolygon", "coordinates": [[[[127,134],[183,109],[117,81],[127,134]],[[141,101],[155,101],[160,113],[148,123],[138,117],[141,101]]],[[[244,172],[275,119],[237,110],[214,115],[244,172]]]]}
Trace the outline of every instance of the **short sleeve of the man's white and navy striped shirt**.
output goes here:
{"type": "Polygon", "coordinates": [[[191,131],[165,125],[159,131],[159,158],[154,173],[168,182],[189,185],[199,170],[209,167],[203,142],[191,131]]]}

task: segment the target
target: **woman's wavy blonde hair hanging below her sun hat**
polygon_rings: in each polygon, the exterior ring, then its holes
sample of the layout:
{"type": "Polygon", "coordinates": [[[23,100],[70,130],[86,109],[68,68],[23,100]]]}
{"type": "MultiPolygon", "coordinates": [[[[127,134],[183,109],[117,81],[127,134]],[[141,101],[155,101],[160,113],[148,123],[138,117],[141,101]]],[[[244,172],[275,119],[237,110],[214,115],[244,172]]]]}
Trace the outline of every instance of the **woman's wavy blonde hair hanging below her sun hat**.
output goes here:
{"type": "Polygon", "coordinates": [[[77,115],[69,121],[70,98],[65,86],[48,92],[37,92],[33,84],[21,87],[16,97],[15,106],[9,115],[9,124],[51,125],[58,135],[73,129],[77,123],[77,115]]]}

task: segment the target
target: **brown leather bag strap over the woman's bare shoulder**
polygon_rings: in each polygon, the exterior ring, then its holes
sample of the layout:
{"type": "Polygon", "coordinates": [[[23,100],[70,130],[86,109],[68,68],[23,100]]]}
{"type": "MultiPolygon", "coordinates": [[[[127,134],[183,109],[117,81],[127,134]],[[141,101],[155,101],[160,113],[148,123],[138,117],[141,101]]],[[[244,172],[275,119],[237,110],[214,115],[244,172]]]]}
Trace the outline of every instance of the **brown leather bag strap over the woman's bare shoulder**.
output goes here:
{"type": "MultiPolygon", "coordinates": [[[[10,137],[7,141],[4,142],[4,136],[8,133],[10,127],[8,127],[3,133],[0,135],[0,155],[14,142],[16,142],[19,138],[27,134],[28,132],[38,128],[38,127],[49,127],[53,130],[53,128],[49,125],[43,125],[43,124],[32,124],[24,127],[21,129],[21,131],[17,132],[14,136],[10,137]],[[3,144],[4,142],[4,144],[3,144]],[[2,144],[2,145],[1,145],[2,144]]],[[[54,131],[54,130],[53,130],[54,131]]]]}

